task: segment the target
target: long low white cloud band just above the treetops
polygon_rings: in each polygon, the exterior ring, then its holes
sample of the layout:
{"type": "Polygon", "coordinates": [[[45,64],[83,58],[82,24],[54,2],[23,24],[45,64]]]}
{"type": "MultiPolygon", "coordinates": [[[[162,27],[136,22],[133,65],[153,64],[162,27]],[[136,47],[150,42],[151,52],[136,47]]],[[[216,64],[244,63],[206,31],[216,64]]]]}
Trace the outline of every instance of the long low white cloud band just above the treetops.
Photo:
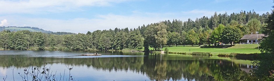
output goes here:
{"type": "MultiPolygon", "coordinates": [[[[106,14],[96,15],[92,19],[75,18],[75,19],[48,19],[48,18],[29,18],[18,15],[0,16],[9,20],[9,26],[30,26],[39,27],[44,30],[53,32],[73,32],[73,33],[86,33],[87,31],[95,30],[108,30],[118,28],[137,28],[143,24],[157,23],[164,20],[180,19],[187,21],[188,18],[195,20],[203,16],[210,17],[215,11],[207,10],[191,10],[178,13],[150,13],[133,11],[131,15],[117,15],[106,14]]],[[[228,15],[233,11],[227,12],[228,15]]],[[[224,13],[224,11],[217,11],[217,13],[224,13]]]]}

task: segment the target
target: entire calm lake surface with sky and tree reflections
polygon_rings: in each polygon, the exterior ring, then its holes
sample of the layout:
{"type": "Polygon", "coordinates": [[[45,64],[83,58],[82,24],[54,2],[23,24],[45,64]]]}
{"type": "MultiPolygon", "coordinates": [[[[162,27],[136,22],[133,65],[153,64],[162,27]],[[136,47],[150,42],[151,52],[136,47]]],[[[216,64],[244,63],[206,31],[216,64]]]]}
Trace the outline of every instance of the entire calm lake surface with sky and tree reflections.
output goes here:
{"type": "MultiPolygon", "coordinates": [[[[229,74],[249,72],[251,60],[218,56],[149,54],[121,51],[0,51],[0,78],[22,80],[18,74],[33,66],[50,67],[52,74],[68,79],[67,66],[76,81],[225,80],[229,74]],[[96,53],[102,56],[79,56],[96,53]],[[14,69],[14,70],[13,70],[14,69]],[[65,73],[64,73],[65,71],[65,73]]],[[[30,78],[29,78],[30,79],[30,78]]],[[[63,79],[63,78],[62,78],[63,79]]],[[[59,80],[59,79],[58,79],[59,80]]]]}

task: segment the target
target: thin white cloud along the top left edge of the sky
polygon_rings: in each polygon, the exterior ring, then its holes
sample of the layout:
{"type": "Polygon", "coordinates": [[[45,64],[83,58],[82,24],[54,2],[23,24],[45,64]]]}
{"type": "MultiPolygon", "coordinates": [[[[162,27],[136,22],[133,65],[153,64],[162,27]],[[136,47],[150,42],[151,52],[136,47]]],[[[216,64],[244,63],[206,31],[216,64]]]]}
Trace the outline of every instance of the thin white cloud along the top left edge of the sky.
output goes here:
{"type": "Polygon", "coordinates": [[[84,6],[109,6],[126,0],[1,0],[0,14],[43,13],[79,10],[84,6]]]}

